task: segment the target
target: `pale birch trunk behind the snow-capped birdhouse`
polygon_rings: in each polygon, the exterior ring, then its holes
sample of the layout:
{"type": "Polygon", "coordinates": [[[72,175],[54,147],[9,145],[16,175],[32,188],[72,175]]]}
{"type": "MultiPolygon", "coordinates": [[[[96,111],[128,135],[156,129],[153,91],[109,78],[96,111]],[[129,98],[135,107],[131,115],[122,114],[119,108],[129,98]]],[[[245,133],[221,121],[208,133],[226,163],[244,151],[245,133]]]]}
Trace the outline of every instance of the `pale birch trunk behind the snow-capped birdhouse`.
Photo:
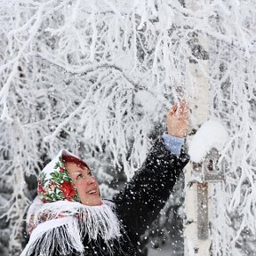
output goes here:
{"type": "MultiPolygon", "coordinates": [[[[196,10],[196,1],[188,0],[186,2],[186,7],[191,10],[196,10]]],[[[198,43],[204,46],[204,49],[207,49],[207,42],[204,36],[198,36],[198,43]]],[[[204,70],[207,70],[207,62],[204,60],[202,65],[206,65],[204,70]]],[[[198,62],[190,61],[187,63],[187,72],[196,77],[196,84],[191,86],[191,81],[188,80],[188,76],[186,76],[186,87],[187,88],[196,88],[197,92],[190,92],[191,98],[189,98],[188,103],[190,109],[192,110],[193,116],[193,127],[198,128],[200,124],[204,124],[204,122],[208,119],[209,116],[209,85],[207,83],[207,79],[202,72],[202,69],[198,68],[198,62]]],[[[193,135],[192,135],[193,136],[193,135]]],[[[188,136],[188,145],[189,140],[192,139],[192,136],[188,136]]],[[[203,186],[205,183],[195,182],[192,177],[193,166],[192,163],[187,165],[186,173],[185,173],[185,214],[186,218],[184,220],[184,254],[185,256],[210,256],[210,247],[211,247],[211,239],[210,234],[208,233],[208,238],[202,240],[198,238],[200,237],[200,230],[198,230],[198,213],[200,209],[198,204],[201,200],[205,200],[204,205],[207,206],[208,211],[206,212],[207,218],[203,221],[208,228],[208,212],[211,207],[211,203],[207,200],[210,195],[209,191],[211,190],[211,184],[208,182],[206,187],[203,186]],[[204,190],[202,188],[204,187],[204,190]],[[201,198],[200,198],[201,197],[201,198]],[[208,198],[206,198],[208,197],[208,198]]],[[[211,197],[210,197],[211,198],[211,197]]]]}

